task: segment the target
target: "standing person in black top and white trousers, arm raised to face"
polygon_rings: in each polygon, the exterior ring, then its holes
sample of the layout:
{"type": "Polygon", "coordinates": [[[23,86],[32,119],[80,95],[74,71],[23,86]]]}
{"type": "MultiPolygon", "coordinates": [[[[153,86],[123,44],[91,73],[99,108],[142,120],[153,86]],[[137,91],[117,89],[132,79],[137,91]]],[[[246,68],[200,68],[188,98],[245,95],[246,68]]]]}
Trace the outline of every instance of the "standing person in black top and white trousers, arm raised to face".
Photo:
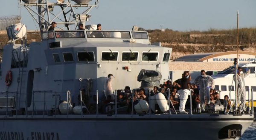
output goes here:
{"type": "Polygon", "coordinates": [[[179,86],[181,90],[179,90],[180,94],[180,114],[188,114],[185,111],[186,101],[189,97],[189,87],[190,87],[191,76],[188,71],[184,71],[183,77],[181,78],[181,85],[179,86]]]}

